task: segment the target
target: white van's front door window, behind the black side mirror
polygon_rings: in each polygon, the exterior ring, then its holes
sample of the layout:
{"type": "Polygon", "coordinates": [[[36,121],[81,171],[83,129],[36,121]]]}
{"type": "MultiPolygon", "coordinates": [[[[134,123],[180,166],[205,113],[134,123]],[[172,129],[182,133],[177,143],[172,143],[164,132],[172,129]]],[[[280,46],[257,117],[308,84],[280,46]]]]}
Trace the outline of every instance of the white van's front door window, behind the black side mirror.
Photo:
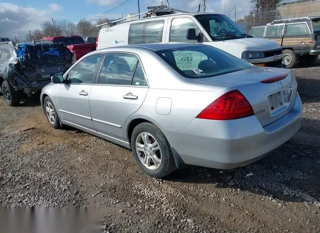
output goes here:
{"type": "Polygon", "coordinates": [[[195,34],[199,33],[199,27],[191,18],[173,18],[170,29],[170,42],[197,42],[186,39],[186,31],[189,28],[195,29],[195,34]]]}

